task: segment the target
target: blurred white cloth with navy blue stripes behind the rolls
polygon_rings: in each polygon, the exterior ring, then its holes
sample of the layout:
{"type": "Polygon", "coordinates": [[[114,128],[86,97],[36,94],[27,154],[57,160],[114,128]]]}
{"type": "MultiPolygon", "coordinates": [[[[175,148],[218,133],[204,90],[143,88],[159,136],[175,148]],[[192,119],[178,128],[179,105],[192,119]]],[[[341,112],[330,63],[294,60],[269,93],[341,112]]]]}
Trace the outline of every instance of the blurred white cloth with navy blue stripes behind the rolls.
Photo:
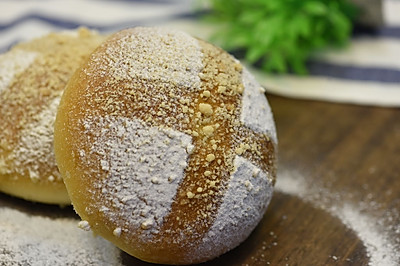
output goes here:
{"type": "MultiPolygon", "coordinates": [[[[213,27],[198,19],[196,0],[2,0],[0,52],[51,31],[86,26],[114,32],[168,26],[207,39],[213,27]]],[[[385,25],[354,36],[343,50],[316,54],[309,76],[271,75],[251,68],[269,93],[365,105],[400,107],[400,0],[383,0],[385,25]]]]}

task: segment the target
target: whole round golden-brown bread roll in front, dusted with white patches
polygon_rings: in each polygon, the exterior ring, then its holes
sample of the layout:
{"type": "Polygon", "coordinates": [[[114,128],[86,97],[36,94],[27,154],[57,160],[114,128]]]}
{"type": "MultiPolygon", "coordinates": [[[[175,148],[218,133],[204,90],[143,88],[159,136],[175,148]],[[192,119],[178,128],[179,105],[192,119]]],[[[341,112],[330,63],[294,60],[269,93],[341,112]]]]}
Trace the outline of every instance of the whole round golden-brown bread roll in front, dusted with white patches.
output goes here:
{"type": "Polygon", "coordinates": [[[183,32],[112,35],[69,81],[55,154],[80,226],[148,262],[191,264],[239,245],[276,176],[264,90],[183,32]]]}

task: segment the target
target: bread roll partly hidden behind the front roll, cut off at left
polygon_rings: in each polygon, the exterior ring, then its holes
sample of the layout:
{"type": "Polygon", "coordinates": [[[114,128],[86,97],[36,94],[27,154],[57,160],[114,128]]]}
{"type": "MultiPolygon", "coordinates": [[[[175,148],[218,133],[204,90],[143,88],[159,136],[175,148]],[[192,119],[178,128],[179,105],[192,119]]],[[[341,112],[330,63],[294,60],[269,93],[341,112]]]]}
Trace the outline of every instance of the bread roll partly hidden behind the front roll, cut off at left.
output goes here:
{"type": "Polygon", "coordinates": [[[70,204],[53,152],[53,124],[68,79],[105,38],[81,28],[0,55],[0,191],[70,204]]]}

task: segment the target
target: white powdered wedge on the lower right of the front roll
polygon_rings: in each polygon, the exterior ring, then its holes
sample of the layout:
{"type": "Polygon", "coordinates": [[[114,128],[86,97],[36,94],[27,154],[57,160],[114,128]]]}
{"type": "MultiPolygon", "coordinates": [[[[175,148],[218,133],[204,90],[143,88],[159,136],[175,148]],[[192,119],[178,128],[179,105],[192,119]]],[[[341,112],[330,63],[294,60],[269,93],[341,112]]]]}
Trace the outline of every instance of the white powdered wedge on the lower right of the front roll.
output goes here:
{"type": "Polygon", "coordinates": [[[273,186],[267,174],[249,160],[236,156],[236,171],[213,226],[199,247],[203,254],[223,253],[246,239],[263,217],[273,186]]]}

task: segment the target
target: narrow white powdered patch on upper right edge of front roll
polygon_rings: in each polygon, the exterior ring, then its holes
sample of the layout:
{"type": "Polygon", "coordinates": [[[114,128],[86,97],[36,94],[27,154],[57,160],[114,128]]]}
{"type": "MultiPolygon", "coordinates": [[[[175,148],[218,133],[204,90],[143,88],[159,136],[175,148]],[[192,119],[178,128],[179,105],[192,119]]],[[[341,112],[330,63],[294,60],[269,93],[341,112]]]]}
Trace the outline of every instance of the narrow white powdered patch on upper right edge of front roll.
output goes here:
{"type": "Polygon", "coordinates": [[[275,123],[265,90],[246,68],[242,72],[242,81],[244,91],[240,120],[255,131],[268,133],[277,143],[275,123]]]}

